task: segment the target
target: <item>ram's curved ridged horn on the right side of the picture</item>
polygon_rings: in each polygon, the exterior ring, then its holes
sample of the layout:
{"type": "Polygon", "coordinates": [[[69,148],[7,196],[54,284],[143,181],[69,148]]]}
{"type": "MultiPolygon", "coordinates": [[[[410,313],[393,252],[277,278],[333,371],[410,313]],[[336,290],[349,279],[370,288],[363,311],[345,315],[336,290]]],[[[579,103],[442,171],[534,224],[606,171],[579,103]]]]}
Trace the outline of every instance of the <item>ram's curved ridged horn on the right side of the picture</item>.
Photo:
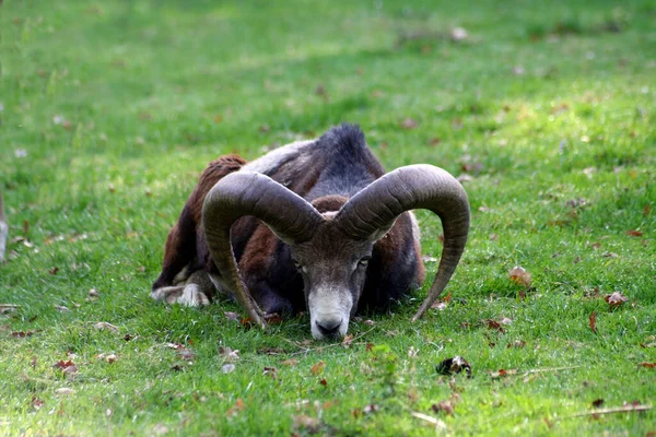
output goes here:
{"type": "Polygon", "coordinates": [[[335,217],[347,235],[375,240],[391,228],[401,213],[414,209],[431,210],[440,216],[444,248],[431,290],[412,321],[437,299],[465,250],[469,201],[460,182],[446,170],[432,165],[397,168],[353,196],[335,217]]]}

